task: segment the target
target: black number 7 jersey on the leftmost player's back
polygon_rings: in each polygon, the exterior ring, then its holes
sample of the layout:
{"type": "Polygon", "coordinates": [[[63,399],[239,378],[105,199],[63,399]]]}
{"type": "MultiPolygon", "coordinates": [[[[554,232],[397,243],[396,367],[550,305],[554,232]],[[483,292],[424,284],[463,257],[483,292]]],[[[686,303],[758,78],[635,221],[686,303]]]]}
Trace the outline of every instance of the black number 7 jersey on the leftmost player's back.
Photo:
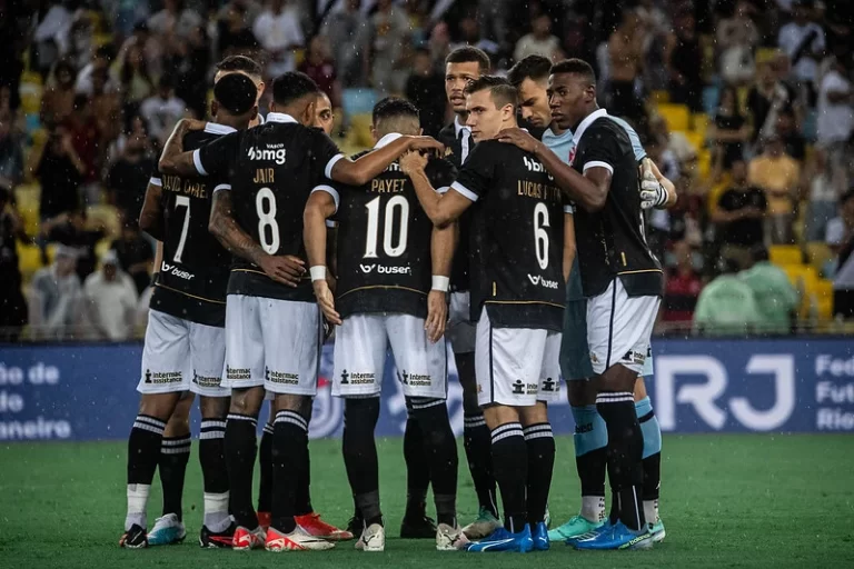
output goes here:
{"type": "MultiPolygon", "coordinates": [[[[187,150],[212,142],[235,129],[209,122],[188,132],[187,150]]],[[[228,252],[208,231],[215,180],[206,177],[161,176],[163,259],[150,307],[208,326],[225,323],[228,252]]]]}

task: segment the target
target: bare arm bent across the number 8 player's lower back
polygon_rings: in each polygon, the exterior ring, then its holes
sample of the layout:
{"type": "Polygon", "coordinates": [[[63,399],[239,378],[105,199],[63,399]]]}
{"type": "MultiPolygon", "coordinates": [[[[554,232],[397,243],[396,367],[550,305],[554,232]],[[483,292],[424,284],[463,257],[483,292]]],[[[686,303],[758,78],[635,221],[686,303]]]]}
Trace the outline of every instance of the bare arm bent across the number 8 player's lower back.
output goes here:
{"type": "Polygon", "coordinates": [[[306,272],[305,262],[294,256],[271,256],[256,243],[235,221],[231,194],[228,190],[214,193],[208,230],[231,254],[254,262],[276,282],[295,287],[306,272]]]}

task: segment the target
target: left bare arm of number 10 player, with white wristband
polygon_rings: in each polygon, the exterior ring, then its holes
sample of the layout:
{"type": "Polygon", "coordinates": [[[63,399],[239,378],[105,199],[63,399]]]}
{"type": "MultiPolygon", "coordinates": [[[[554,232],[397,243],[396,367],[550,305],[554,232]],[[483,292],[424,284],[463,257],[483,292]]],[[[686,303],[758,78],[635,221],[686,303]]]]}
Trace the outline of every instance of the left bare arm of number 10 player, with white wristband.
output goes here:
{"type": "Polygon", "coordinates": [[[308,198],[302,212],[302,242],[311,268],[311,286],[324,316],[334,325],[341,323],[340,315],[335,310],[335,298],[327,281],[326,266],[326,220],[335,214],[335,199],[325,191],[315,191],[308,198]]]}

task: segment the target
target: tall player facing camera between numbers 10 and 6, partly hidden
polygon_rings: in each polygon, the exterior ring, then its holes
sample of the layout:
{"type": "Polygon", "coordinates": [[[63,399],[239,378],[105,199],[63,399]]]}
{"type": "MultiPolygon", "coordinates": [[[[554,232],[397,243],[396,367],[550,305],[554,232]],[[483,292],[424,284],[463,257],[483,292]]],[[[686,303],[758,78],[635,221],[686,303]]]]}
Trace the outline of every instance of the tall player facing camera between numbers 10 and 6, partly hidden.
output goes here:
{"type": "MultiPolygon", "coordinates": [[[[439,132],[446,158],[459,170],[475,148],[471,129],[467,126],[466,87],[489,72],[489,56],[478,48],[464,46],[445,59],[445,92],[454,109],[454,121],[439,132]]],[[[478,516],[463,528],[469,539],[480,539],[500,526],[495,499],[493,460],[489,455],[489,428],[477,403],[475,381],[476,321],[470,320],[468,241],[471,212],[459,219],[457,252],[450,274],[450,309],[446,336],[454,350],[459,383],[463,387],[463,442],[471,481],[477,493],[478,516]]]]}

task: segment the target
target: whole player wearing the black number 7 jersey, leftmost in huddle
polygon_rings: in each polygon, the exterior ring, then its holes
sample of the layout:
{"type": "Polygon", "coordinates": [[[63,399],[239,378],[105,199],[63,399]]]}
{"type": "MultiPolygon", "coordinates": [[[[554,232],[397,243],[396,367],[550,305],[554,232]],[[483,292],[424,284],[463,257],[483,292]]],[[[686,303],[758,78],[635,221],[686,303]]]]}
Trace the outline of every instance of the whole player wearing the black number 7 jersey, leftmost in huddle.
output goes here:
{"type": "MultiPolygon", "coordinates": [[[[182,144],[196,149],[245,129],[255,117],[255,87],[242,76],[214,88],[211,118],[203,130],[186,133],[182,144]]],[[[228,477],[224,435],[229,390],[220,385],[226,349],[228,253],[208,232],[214,186],[190,174],[151,178],[140,213],[140,228],[162,242],[163,256],[151,297],[139,415],[128,440],[128,511],[120,545],[141,548],[180,541],[183,471],[190,451],[189,430],[163,439],[166,422],[182,393],[201,398],[199,459],[205,479],[202,547],[228,547],[234,525],[228,513],[228,477]],[[162,450],[161,450],[162,447],[162,450]],[[182,465],[175,465],[175,462],[182,465]],[[163,517],[147,533],[146,503],[155,469],[163,479],[163,517]],[[176,478],[167,472],[180,472],[176,478]]],[[[187,411],[188,412],[188,411],[187,411]]],[[[186,421],[186,417],[185,417],[186,421]]]]}

